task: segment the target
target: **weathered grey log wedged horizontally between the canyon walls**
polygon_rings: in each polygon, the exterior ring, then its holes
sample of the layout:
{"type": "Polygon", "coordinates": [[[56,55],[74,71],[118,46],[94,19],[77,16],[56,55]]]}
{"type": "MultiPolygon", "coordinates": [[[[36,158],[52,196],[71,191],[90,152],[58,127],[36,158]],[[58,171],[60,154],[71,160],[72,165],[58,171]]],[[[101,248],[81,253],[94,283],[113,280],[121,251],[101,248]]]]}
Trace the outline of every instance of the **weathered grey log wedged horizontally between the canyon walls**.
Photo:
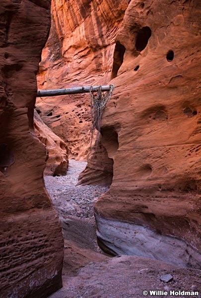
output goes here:
{"type": "Polygon", "coordinates": [[[110,91],[111,85],[108,86],[89,86],[89,87],[77,87],[68,89],[53,89],[53,90],[39,90],[37,91],[37,97],[44,96],[59,96],[66,94],[78,94],[98,91],[110,91]]]}

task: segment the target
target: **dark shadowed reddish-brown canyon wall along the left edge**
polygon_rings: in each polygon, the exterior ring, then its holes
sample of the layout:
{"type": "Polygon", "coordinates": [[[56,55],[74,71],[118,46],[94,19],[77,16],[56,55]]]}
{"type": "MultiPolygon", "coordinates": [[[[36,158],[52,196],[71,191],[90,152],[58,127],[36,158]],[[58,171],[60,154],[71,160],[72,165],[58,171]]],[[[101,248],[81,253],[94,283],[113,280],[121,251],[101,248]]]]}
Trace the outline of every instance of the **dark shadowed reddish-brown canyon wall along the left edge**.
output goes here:
{"type": "Polygon", "coordinates": [[[63,237],[33,122],[49,4],[0,3],[0,297],[42,298],[62,286],[63,237]]]}

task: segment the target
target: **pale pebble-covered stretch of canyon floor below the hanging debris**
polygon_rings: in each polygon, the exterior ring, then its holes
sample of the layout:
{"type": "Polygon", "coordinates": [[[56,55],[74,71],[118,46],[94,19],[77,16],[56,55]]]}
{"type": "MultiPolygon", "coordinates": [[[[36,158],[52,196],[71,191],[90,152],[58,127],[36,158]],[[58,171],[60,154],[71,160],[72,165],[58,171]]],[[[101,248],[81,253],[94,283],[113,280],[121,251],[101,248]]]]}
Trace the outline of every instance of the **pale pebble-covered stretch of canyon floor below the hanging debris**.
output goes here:
{"type": "Polygon", "coordinates": [[[78,185],[78,176],[87,162],[69,159],[66,176],[45,176],[46,189],[55,209],[63,215],[79,218],[93,217],[93,206],[109,188],[99,185],[78,185]]]}

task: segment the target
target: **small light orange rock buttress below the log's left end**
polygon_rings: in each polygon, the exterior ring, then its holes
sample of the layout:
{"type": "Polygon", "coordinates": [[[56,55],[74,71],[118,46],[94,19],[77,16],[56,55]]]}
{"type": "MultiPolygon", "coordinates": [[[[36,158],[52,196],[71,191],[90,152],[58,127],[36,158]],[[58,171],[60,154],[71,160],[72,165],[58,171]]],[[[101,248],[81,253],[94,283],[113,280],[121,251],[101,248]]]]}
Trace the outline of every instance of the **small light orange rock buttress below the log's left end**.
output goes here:
{"type": "Polygon", "coordinates": [[[34,128],[39,140],[46,146],[48,151],[44,175],[66,175],[68,168],[66,143],[45,125],[37,111],[34,111],[34,128]]]}

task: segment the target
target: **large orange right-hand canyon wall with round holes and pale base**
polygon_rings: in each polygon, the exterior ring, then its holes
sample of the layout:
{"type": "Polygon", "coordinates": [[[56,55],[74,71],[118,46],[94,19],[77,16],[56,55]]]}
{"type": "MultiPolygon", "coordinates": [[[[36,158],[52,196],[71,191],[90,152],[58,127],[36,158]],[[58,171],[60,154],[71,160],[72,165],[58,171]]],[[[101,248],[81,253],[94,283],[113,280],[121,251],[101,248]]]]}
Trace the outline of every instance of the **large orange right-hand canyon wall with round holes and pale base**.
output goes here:
{"type": "Polygon", "coordinates": [[[118,31],[101,128],[113,180],[95,206],[113,254],[201,267],[200,24],[198,0],[131,0],[118,31]]]}

